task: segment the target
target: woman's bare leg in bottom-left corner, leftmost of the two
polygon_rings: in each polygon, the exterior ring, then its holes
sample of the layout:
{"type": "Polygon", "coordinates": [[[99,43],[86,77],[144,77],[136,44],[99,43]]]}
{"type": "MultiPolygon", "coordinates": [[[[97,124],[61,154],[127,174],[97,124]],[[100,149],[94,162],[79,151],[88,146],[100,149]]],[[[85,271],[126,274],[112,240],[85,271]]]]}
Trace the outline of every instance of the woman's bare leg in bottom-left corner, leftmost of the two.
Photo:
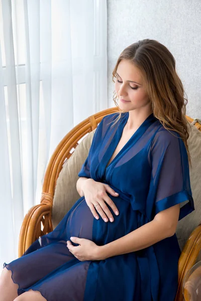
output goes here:
{"type": "Polygon", "coordinates": [[[5,267],[0,276],[0,301],[13,301],[18,296],[18,284],[13,282],[11,275],[5,267]]]}

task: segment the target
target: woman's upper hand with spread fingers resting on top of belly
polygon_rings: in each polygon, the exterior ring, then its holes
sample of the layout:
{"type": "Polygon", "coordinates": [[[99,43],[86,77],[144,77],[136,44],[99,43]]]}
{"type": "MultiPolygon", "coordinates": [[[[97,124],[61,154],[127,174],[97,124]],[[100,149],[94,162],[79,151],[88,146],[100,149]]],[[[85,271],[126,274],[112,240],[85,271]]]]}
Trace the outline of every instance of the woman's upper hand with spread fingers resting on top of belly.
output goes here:
{"type": "Polygon", "coordinates": [[[96,213],[97,210],[105,222],[108,222],[108,218],[111,222],[114,221],[113,215],[106,203],[113,209],[116,215],[119,215],[119,211],[115,203],[108,196],[107,192],[114,197],[118,197],[119,194],[116,193],[108,184],[96,182],[93,179],[87,179],[82,185],[82,191],[84,193],[86,204],[90,208],[94,218],[99,219],[99,216],[96,213]]]}

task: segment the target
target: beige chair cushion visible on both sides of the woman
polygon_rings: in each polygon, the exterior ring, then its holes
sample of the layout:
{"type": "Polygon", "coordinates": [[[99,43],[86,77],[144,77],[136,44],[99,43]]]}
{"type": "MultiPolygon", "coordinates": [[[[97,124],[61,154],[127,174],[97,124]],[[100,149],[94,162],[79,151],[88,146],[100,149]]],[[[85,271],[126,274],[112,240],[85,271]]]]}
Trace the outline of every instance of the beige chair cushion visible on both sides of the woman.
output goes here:
{"type": "MultiPolygon", "coordinates": [[[[190,169],[190,184],[194,199],[195,211],[178,222],[176,235],[181,250],[193,229],[201,223],[201,132],[189,124],[188,147],[191,155],[192,169],[190,169]]],[[[53,228],[61,221],[72,205],[80,198],[76,190],[76,182],[81,166],[88,156],[94,131],[91,131],[75,148],[69,160],[64,164],[57,179],[55,188],[52,223],[53,228]]]]}

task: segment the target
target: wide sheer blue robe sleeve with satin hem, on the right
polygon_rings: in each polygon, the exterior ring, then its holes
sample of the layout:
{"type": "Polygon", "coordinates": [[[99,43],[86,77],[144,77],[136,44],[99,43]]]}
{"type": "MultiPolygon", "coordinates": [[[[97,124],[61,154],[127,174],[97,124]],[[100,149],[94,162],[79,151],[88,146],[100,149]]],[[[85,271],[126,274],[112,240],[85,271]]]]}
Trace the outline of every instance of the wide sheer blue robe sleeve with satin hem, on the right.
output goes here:
{"type": "Polygon", "coordinates": [[[185,144],[175,131],[159,130],[151,147],[154,215],[180,204],[179,220],[194,210],[185,144]]]}

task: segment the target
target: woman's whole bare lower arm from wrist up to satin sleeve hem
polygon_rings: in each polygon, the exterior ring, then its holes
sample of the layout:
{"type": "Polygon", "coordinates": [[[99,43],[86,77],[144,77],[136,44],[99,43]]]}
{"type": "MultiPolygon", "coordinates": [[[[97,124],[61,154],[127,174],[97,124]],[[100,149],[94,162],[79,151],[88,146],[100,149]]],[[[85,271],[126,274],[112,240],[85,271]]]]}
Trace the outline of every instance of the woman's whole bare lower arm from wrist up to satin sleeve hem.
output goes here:
{"type": "Polygon", "coordinates": [[[99,246],[97,260],[135,252],[174,235],[179,218],[179,210],[180,204],[177,204],[160,211],[151,222],[117,240],[99,246]]]}

